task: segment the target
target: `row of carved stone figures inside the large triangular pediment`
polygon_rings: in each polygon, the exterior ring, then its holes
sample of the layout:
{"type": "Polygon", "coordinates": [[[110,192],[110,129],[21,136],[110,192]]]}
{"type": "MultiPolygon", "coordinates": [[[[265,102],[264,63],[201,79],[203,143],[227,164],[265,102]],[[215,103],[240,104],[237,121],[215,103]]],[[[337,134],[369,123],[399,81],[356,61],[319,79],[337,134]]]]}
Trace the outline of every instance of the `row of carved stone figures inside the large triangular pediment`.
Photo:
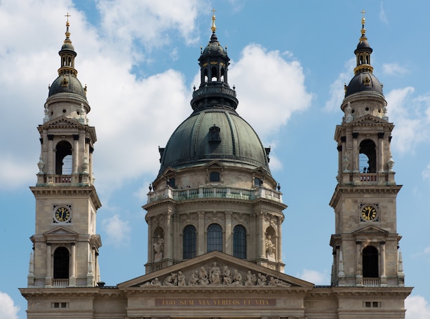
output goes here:
{"type": "Polygon", "coordinates": [[[162,281],[158,278],[148,281],[140,287],[152,287],[152,286],[207,286],[207,285],[245,285],[245,286],[291,286],[289,283],[280,281],[279,279],[270,277],[269,282],[267,282],[268,274],[264,275],[259,273],[258,275],[251,273],[251,270],[247,271],[245,275],[245,283],[242,279],[242,274],[238,270],[234,270],[233,273],[229,270],[228,266],[225,265],[221,267],[218,263],[214,262],[209,267],[209,272],[207,272],[205,267],[193,270],[191,272],[190,278],[187,279],[182,271],[171,272],[170,275],[166,276],[162,281]],[[222,269],[222,270],[221,270],[222,269]]]}

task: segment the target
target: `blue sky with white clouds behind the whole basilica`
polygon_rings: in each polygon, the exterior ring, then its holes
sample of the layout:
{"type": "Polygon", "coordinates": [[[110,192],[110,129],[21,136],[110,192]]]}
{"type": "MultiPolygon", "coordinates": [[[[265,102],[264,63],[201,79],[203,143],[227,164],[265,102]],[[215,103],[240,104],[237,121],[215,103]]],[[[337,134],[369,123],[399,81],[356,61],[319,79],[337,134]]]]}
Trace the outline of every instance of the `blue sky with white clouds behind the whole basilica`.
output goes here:
{"type": "Polygon", "coordinates": [[[330,284],[335,126],[352,78],[365,14],[374,75],[383,82],[398,195],[407,318],[430,317],[430,3],[411,0],[2,0],[0,2],[0,319],[25,318],[34,197],[47,86],[69,12],[76,69],[95,126],[95,186],[102,200],[100,272],[107,285],[144,274],[148,185],[164,147],[190,115],[200,46],[216,34],[231,58],[238,113],[271,146],[280,182],[285,272],[330,284]]]}

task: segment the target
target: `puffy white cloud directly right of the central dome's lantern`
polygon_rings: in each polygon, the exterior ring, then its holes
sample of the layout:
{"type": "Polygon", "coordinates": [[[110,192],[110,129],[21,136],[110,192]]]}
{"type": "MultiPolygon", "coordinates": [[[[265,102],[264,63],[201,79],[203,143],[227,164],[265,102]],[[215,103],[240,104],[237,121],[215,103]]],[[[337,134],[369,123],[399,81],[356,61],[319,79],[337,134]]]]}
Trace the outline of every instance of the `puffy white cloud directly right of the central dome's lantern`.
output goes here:
{"type": "MultiPolygon", "coordinates": [[[[291,115],[310,106],[312,94],[306,91],[302,66],[297,60],[284,60],[279,51],[267,51],[257,44],[247,45],[229,68],[229,84],[236,86],[238,113],[267,143],[291,115]]],[[[286,55],[288,57],[288,55],[286,55]]]]}

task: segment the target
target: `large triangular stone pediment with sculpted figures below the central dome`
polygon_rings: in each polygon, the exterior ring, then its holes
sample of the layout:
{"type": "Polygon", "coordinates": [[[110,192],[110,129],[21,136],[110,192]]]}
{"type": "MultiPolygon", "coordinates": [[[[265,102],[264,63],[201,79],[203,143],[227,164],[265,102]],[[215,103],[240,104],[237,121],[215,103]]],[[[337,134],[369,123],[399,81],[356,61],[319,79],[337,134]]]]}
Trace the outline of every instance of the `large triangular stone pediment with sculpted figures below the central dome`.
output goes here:
{"type": "Polygon", "coordinates": [[[238,259],[223,252],[213,251],[118,285],[120,289],[128,287],[166,287],[168,289],[172,286],[193,287],[193,289],[226,286],[312,288],[313,283],[238,259]],[[234,279],[235,276],[236,280],[234,279]],[[238,281],[238,278],[241,280],[238,281]],[[260,281],[258,281],[259,278],[260,281]]]}

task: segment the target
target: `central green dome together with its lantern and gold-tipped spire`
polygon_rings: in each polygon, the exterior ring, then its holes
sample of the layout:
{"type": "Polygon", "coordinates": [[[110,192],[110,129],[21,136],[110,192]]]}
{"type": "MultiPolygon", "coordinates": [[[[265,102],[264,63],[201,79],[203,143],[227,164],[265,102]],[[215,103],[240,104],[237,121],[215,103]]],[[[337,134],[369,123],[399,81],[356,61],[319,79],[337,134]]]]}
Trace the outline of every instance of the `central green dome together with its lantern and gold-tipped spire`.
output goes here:
{"type": "Polygon", "coordinates": [[[211,29],[210,43],[199,57],[201,83],[190,102],[194,112],[160,148],[159,177],[169,167],[199,167],[211,161],[245,169],[261,167],[270,176],[269,148],[236,113],[236,91],[227,82],[230,59],[216,37],[215,16],[211,29]]]}

